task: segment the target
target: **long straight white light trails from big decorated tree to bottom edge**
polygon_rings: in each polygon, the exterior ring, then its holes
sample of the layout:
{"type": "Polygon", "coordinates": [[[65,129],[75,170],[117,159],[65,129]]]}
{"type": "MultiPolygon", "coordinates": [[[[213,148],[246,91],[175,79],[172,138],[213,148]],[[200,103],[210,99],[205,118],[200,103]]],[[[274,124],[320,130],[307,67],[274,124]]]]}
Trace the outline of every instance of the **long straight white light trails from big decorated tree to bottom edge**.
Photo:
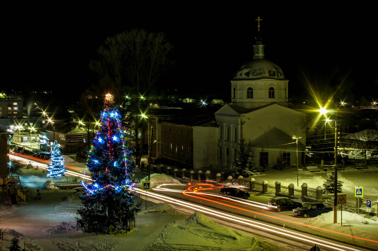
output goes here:
{"type": "MultiPolygon", "coordinates": [[[[203,184],[201,184],[201,185],[203,185],[203,184]]],[[[192,210],[199,211],[199,212],[204,213],[204,214],[211,214],[212,216],[215,216],[215,217],[223,218],[223,219],[226,219],[226,220],[232,220],[236,223],[241,223],[241,224],[244,224],[244,225],[248,225],[250,227],[260,228],[264,231],[269,231],[269,232],[272,232],[272,233],[275,233],[275,234],[280,234],[280,235],[286,236],[288,238],[306,241],[306,242],[309,242],[309,243],[312,243],[312,244],[321,245],[321,246],[324,246],[324,247],[327,247],[327,248],[330,248],[330,249],[333,249],[333,250],[338,250],[338,251],[346,251],[346,250],[348,250],[348,251],[359,251],[359,249],[351,248],[351,247],[344,246],[344,245],[339,245],[337,243],[332,243],[332,242],[327,241],[327,240],[318,239],[318,238],[315,238],[315,237],[307,236],[305,234],[299,234],[299,233],[296,233],[296,232],[293,232],[293,231],[281,229],[281,228],[274,227],[274,226],[271,226],[271,225],[268,225],[268,224],[265,224],[265,223],[257,222],[257,221],[254,221],[254,220],[245,219],[245,218],[238,217],[238,216],[235,216],[235,215],[232,215],[232,214],[223,213],[223,212],[214,210],[214,208],[203,207],[203,206],[192,204],[190,202],[186,202],[186,201],[183,201],[183,200],[174,199],[174,198],[171,198],[169,196],[162,195],[162,194],[156,194],[156,193],[152,193],[152,192],[149,192],[149,191],[143,191],[139,188],[133,188],[133,190],[135,190],[135,191],[137,191],[141,194],[146,194],[146,196],[149,196],[149,197],[152,197],[152,198],[155,198],[155,199],[163,200],[163,201],[166,201],[168,203],[179,205],[181,207],[191,208],[192,210]]],[[[160,190],[160,189],[153,188],[153,190],[160,190]]]]}

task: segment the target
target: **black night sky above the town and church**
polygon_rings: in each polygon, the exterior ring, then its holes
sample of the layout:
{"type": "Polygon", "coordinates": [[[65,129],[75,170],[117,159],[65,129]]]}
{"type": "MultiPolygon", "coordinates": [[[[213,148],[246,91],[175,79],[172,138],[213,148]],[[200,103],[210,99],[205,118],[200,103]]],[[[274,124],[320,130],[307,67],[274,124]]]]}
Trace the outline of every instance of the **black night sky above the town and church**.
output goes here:
{"type": "Polygon", "coordinates": [[[316,4],[9,6],[3,10],[0,91],[64,89],[78,96],[96,83],[88,63],[105,38],[144,28],[165,32],[175,45],[176,64],[161,79],[169,93],[220,94],[227,100],[229,81],[253,59],[260,16],[265,56],[289,80],[289,98],[307,95],[306,77],[320,92],[343,82],[339,91],[376,99],[375,8],[316,4]]]}

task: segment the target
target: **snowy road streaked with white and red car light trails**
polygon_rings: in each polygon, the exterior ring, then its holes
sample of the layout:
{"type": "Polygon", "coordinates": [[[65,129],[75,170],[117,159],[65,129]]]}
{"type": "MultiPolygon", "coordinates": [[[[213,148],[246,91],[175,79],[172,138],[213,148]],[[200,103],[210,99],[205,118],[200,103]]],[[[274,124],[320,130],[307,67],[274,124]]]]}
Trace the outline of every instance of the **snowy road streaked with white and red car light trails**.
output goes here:
{"type": "MultiPolygon", "coordinates": [[[[12,153],[10,158],[24,163],[32,162],[46,168],[48,161],[12,153]]],[[[66,165],[67,175],[81,176],[79,168],[66,165]],[[78,170],[78,171],[77,171],[78,170]]],[[[84,176],[90,179],[89,176],[84,176]]],[[[160,185],[148,191],[149,200],[166,202],[177,211],[191,215],[195,211],[206,214],[209,219],[238,231],[260,236],[277,245],[287,245],[296,250],[310,250],[317,244],[321,250],[370,251],[376,250],[377,240],[345,234],[306,223],[308,219],[294,217],[291,211],[266,210],[266,205],[251,200],[219,196],[221,185],[190,184],[160,185]]],[[[135,189],[144,198],[145,191],[135,189]]],[[[333,225],[334,226],[334,225],[333,225]]]]}

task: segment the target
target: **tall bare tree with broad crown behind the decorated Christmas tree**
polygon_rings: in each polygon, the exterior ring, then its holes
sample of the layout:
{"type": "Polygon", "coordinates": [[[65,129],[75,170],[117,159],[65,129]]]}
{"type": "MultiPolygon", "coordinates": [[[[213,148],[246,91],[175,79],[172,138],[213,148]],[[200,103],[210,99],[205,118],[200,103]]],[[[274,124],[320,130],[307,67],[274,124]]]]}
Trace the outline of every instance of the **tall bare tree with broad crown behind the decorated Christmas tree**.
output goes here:
{"type": "Polygon", "coordinates": [[[94,117],[91,111],[101,110],[104,95],[111,92],[125,115],[123,126],[132,138],[137,164],[147,128],[140,113],[146,113],[161,74],[174,64],[169,57],[172,49],[164,33],[133,29],[106,38],[98,49],[98,59],[89,63],[98,73],[99,84],[82,95],[84,113],[94,117]]]}

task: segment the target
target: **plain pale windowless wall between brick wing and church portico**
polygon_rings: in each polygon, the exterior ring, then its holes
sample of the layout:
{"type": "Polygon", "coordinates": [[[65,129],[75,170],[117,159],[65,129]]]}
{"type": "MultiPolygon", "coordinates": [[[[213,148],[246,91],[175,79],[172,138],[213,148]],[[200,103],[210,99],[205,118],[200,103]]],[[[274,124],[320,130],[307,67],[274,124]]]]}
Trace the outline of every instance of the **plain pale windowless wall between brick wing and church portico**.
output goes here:
{"type": "Polygon", "coordinates": [[[193,127],[193,167],[216,167],[218,164],[218,127],[193,127]]]}

